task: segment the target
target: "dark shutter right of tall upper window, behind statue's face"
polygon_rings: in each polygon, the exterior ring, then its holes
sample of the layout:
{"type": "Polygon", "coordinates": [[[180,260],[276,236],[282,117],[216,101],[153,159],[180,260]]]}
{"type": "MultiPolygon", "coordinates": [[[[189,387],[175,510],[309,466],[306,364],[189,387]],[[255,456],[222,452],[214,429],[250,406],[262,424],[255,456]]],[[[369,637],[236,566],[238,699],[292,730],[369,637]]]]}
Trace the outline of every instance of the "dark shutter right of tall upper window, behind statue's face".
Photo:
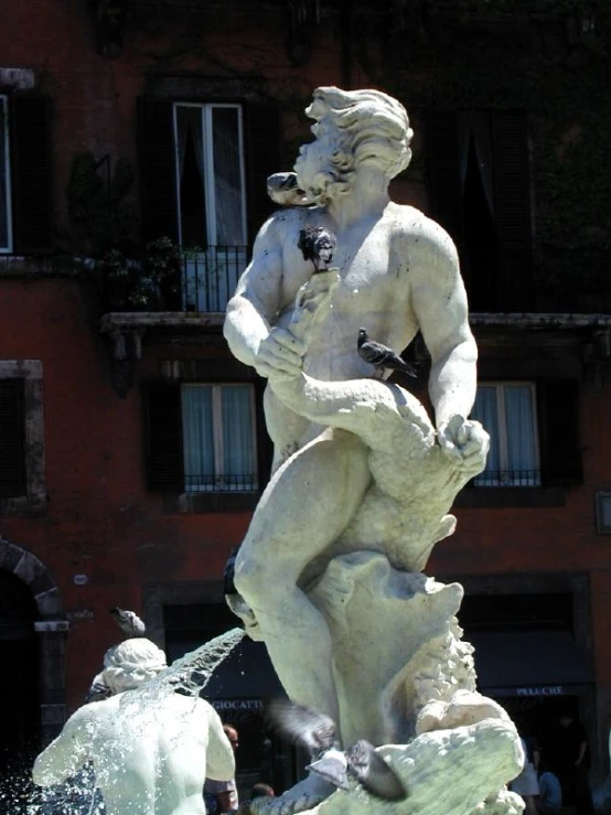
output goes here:
{"type": "Polygon", "coordinates": [[[253,242],[266,218],[278,208],[267,194],[267,179],[283,169],[280,108],[250,103],[245,112],[248,236],[253,242]]]}

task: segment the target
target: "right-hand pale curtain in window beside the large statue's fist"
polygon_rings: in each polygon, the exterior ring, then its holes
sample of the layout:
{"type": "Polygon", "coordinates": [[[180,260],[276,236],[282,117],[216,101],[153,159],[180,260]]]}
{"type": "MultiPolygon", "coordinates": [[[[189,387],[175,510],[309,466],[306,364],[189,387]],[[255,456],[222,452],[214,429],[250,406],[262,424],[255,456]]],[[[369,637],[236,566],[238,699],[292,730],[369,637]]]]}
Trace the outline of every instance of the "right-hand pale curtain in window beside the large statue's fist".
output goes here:
{"type": "Polygon", "coordinates": [[[537,470],[533,390],[528,385],[505,386],[507,469],[521,482],[530,483],[537,470]]]}

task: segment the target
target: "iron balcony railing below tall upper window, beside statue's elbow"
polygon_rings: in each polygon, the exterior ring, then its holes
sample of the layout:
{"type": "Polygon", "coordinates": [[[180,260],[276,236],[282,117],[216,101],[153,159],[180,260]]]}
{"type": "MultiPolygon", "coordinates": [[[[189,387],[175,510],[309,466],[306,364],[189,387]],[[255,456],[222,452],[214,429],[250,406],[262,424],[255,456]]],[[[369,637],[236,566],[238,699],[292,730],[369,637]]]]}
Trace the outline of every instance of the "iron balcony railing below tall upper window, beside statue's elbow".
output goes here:
{"type": "Polygon", "coordinates": [[[182,255],[182,308],[185,311],[225,311],[246,268],[246,246],[208,246],[182,255]]]}

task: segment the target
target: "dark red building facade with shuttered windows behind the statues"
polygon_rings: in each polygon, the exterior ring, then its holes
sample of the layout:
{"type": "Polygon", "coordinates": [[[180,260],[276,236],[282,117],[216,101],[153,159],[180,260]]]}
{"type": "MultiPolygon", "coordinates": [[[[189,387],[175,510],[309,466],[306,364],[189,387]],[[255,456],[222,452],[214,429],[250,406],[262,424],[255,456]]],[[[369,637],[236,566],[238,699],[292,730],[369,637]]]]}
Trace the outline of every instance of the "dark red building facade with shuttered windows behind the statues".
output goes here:
{"type": "MultiPolygon", "coordinates": [[[[18,667],[0,704],[14,725],[10,751],[52,736],[81,704],[117,639],[109,608],[141,612],[172,656],[232,624],[223,567],[270,449],[262,383],[229,355],[222,312],[271,208],[265,179],[308,138],[311,89],[376,85],[406,104],[416,130],[414,168],[394,197],[438,218],[459,246],[481,354],[476,415],[494,428],[489,469],[460,496],[458,530],[429,571],[465,585],[461,622],[482,686],[544,725],[550,697],[574,706],[597,773],[608,772],[609,291],[577,283],[593,297],[572,297],[542,271],[551,253],[537,224],[565,206],[537,185],[549,159],[533,132],[545,111],[516,104],[503,77],[471,99],[426,99],[430,65],[444,58],[438,29],[510,25],[528,43],[512,41],[519,83],[544,63],[566,71],[579,36],[605,21],[544,3],[547,15],[460,22],[436,6],[431,22],[406,20],[398,2],[6,0],[0,654],[18,667]],[[384,81],[386,47],[399,69],[384,81]],[[550,63],[545,49],[566,54],[550,63]]],[[[560,164],[588,127],[575,119],[554,132],[560,164]]],[[[594,224],[591,236],[601,264],[607,233],[594,224]]],[[[589,258],[576,277],[587,278],[589,258]]],[[[426,351],[412,353],[426,372],[426,351]]]]}

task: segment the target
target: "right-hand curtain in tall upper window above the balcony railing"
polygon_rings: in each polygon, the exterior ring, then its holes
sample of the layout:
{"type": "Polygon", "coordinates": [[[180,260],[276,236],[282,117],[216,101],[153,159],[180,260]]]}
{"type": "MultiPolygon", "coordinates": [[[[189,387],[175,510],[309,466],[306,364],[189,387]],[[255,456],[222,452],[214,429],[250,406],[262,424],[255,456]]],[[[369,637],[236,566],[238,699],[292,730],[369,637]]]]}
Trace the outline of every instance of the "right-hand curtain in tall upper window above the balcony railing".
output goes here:
{"type": "Polygon", "coordinates": [[[242,217],[238,122],[237,108],[213,108],[212,142],[214,156],[216,244],[218,246],[242,246],[246,243],[242,217]]]}

